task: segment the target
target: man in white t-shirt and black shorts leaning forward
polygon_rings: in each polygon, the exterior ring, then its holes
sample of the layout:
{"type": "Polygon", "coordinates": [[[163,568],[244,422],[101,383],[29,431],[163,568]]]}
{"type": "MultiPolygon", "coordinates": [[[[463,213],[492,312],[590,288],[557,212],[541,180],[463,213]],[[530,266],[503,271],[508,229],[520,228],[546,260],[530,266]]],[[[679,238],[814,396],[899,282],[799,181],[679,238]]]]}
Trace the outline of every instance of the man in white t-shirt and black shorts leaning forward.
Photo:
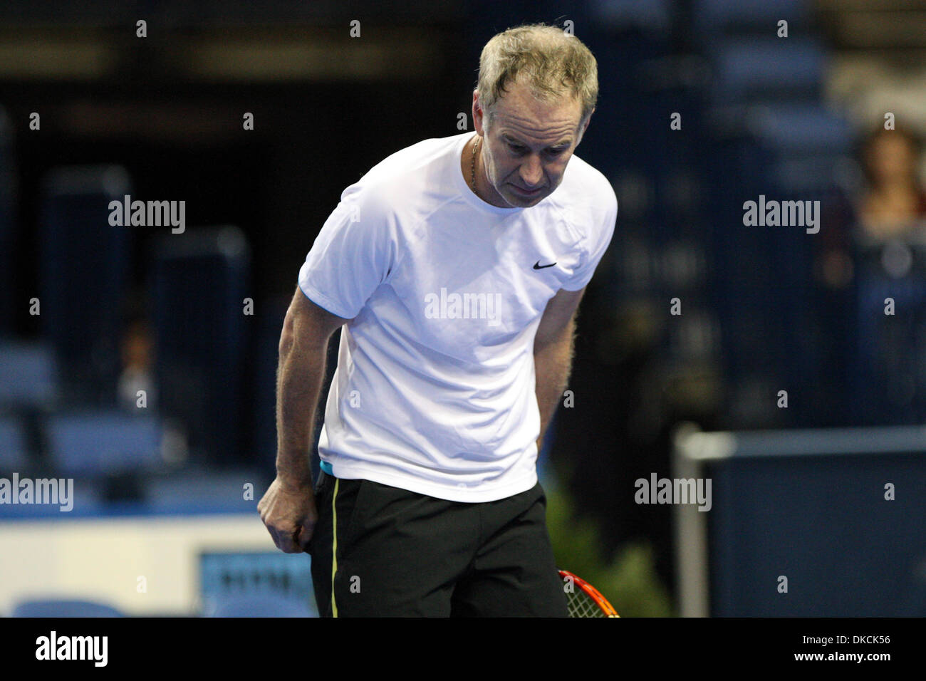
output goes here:
{"type": "Polygon", "coordinates": [[[322,615],[567,614],[536,458],[617,217],[606,178],[573,156],[597,91],[577,38],[494,36],[476,134],[383,160],[308,253],[280,340],[277,478],[257,508],[279,549],[312,555],[322,615]]]}

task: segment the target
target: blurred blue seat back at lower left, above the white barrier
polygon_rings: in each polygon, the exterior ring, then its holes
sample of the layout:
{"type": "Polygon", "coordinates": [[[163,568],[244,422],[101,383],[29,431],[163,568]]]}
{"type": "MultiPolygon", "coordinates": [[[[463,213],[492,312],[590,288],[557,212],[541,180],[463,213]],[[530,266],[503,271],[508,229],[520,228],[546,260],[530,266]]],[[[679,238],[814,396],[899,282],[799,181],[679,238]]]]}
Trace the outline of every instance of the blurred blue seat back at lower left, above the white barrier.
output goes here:
{"type": "Polygon", "coordinates": [[[114,410],[56,414],[45,430],[49,456],[65,475],[132,473],[161,462],[161,425],[154,416],[114,410]]]}

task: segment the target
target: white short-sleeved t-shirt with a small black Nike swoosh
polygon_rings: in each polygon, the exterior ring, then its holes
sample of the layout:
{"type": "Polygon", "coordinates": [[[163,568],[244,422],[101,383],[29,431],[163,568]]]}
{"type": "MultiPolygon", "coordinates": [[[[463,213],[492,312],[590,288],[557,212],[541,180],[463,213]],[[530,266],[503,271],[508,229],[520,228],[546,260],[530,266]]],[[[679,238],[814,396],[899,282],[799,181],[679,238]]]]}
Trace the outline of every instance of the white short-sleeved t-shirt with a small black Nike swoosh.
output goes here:
{"type": "Polygon", "coordinates": [[[592,278],[618,201],[573,156],[537,205],[495,208],[460,169],[471,137],[408,146],[347,187],[299,271],[351,320],[319,434],[337,477],[469,502],[537,482],[534,334],[592,278]]]}

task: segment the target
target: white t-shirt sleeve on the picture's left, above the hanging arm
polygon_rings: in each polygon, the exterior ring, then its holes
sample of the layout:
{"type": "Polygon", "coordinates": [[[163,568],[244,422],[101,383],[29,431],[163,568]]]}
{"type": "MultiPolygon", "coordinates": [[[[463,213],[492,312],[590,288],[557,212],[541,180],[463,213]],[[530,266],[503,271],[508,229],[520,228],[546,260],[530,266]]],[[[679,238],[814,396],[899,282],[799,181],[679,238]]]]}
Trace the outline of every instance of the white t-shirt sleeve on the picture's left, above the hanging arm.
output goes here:
{"type": "Polygon", "coordinates": [[[375,187],[349,186],[299,270],[299,288],[332,314],[357,317],[392,269],[393,225],[375,187]]]}

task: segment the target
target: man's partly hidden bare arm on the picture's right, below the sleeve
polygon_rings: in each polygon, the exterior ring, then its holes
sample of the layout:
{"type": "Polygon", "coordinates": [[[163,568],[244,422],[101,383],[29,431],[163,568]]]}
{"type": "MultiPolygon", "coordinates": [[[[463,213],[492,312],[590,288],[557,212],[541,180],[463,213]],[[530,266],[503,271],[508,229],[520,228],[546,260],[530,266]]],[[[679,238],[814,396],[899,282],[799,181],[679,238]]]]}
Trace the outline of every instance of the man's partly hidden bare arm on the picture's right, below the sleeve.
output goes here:
{"type": "Polygon", "coordinates": [[[533,364],[536,375],[535,390],[540,408],[540,437],[537,450],[544,443],[546,428],[563,397],[572,368],[572,346],[575,334],[575,316],[585,289],[560,289],[550,298],[541,317],[533,341],[533,364]]]}

